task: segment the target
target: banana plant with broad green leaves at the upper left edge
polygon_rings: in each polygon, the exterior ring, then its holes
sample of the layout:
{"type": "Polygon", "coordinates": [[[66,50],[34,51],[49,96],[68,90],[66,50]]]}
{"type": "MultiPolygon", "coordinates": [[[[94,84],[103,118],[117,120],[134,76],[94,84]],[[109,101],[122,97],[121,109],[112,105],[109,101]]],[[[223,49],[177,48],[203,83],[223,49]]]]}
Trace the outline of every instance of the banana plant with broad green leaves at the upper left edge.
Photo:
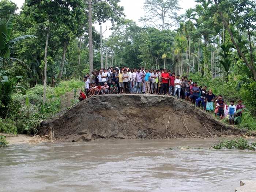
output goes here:
{"type": "Polygon", "coordinates": [[[13,25],[13,15],[10,16],[6,24],[0,25],[0,67],[3,66],[4,61],[16,60],[15,58],[10,57],[11,49],[15,43],[26,38],[37,38],[34,35],[23,35],[14,39],[10,39],[13,25]]]}

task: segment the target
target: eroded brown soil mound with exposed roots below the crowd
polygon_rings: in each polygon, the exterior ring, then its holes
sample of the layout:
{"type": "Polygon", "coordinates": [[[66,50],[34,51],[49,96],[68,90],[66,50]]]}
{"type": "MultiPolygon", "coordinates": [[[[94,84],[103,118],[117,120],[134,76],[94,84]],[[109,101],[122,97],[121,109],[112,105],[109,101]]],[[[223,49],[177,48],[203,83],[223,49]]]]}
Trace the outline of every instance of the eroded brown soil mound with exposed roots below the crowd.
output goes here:
{"type": "Polygon", "coordinates": [[[243,131],[223,124],[188,102],[164,95],[98,95],[41,124],[58,141],[101,138],[214,138],[243,131]]]}

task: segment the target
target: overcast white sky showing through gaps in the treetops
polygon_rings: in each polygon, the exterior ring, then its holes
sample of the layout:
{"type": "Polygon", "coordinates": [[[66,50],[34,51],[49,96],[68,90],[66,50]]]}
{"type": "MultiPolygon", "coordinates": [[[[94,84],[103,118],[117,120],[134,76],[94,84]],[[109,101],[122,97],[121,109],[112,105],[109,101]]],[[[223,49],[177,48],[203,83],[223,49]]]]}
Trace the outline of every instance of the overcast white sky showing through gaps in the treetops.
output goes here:
{"type": "MultiPolygon", "coordinates": [[[[21,8],[22,4],[25,0],[11,0],[15,2],[19,8],[21,8]]],[[[143,26],[142,23],[139,22],[139,19],[144,15],[143,11],[143,5],[145,0],[121,0],[119,5],[124,7],[124,13],[126,15],[127,19],[134,20],[137,25],[143,26]]],[[[180,0],[180,7],[182,10],[179,12],[179,14],[183,14],[185,10],[188,8],[195,7],[196,3],[194,0],[180,0]]],[[[96,30],[99,31],[99,26],[94,25],[96,30]]],[[[105,30],[106,28],[110,28],[111,24],[110,22],[107,22],[102,25],[102,29],[105,30]]],[[[107,30],[106,33],[103,35],[104,37],[109,37],[111,35],[112,31],[107,30]]]]}

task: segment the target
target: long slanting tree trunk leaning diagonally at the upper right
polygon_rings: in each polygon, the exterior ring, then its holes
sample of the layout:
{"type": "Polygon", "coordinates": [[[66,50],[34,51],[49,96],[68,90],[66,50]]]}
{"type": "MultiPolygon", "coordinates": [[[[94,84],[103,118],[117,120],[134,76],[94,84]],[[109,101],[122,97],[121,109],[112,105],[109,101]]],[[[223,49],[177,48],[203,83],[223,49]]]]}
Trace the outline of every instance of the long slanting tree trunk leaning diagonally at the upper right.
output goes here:
{"type": "MultiPolygon", "coordinates": [[[[214,2],[215,2],[215,5],[217,5],[217,8],[218,8],[218,1],[217,1],[217,0],[214,0],[214,2]]],[[[218,13],[219,13],[219,15],[221,16],[222,22],[224,23],[224,25],[225,25],[227,31],[229,32],[231,41],[233,42],[234,46],[236,47],[238,54],[239,54],[239,55],[242,57],[242,59],[244,60],[245,65],[252,71],[253,79],[256,81],[256,70],[255,70],[255,67],[254,67],[253,63],[250,64],[250,63],[248,62],[248,60],[246,59],[244,53],[242,53],[241,49],[240,49],[239,46],[237,45],[237,43],[236,43],[236,41],[235,41],[235,39],[234,39],[233,33],[232,33],[232,31],[230,30],[229,23],[226,21],[225,17],[223,16],[222,11],[219,11],[219,10],[218,10],[218,13]]]]}

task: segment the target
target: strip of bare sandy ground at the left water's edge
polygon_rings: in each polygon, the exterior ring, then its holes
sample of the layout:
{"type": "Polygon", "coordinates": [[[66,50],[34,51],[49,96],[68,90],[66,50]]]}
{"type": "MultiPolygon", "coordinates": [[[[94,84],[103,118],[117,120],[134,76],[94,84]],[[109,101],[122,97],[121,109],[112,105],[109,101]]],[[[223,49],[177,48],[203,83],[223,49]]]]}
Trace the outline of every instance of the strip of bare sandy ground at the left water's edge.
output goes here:
{"type": "Polygon", "coordinates": [[[37,143],[43,143],[49,141],[48,139],[39,138],[38,135],[36,136],[29,136],[29,135],[22,135],[22,134],[6,134],[6,133],[0,133],[0,135],[6,136],[6,141],[9,143],[8,145],[12,144],[37,144],[37,143]]]}

